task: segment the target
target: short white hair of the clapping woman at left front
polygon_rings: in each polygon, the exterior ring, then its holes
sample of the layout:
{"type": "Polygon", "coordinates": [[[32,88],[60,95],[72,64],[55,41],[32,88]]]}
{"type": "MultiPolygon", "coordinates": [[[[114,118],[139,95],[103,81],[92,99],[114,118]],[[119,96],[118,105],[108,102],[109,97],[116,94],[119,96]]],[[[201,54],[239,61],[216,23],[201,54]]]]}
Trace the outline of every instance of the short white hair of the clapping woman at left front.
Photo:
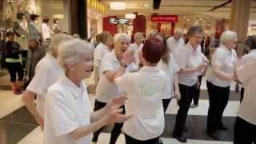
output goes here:
{"type": "Polygon", "coordinates": [[[86,54],[93,54],[93,46],[90,42],[74,38],[68,42],[63,42],[59,46],[58,63],[64,70],[67,70],[66,64],[74,65],[86,54]]]}

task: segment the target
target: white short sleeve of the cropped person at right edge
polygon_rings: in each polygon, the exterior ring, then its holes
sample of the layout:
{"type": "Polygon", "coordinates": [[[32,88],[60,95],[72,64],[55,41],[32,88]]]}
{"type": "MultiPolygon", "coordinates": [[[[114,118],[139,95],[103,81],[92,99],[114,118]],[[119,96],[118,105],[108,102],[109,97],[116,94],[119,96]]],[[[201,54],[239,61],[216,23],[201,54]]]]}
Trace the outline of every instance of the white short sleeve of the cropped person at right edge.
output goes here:
{"type": "Polygon", "coordinates": [[[240,82],[246,82],[252,76],[256,76],[256,62],[250,62],[237,69],[237,75],[240,82]]]}

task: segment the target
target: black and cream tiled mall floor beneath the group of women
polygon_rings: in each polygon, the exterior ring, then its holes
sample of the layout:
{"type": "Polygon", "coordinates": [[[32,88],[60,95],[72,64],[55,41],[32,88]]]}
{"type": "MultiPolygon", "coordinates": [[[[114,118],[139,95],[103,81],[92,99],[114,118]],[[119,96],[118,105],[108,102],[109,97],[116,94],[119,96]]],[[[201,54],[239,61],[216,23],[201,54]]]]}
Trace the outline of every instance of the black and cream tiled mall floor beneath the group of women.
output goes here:
{"type": "MultiPolygon", "coordinates": [[[[92,84],[92,78],[86,79],[86,84],[92,84]]],[[[234,84],[231,86],[230,101],[224,112],[223,122],[229,127],[226,131],[219,131],[218,135],[221,141],[213,141],[205,133],[206,115],[208,110],[208,95],[203,79],[201,86],[201,96],[199,106],[190,109],[186,120],[188,132],[185,133],[189,138],[188,144],[231,144],[233,141],[233,126],[236,110],[239,106],[239,94],[234,92],[234,84]]],[[[94,94],[90,94],[91,106],[94,106],[94,94]]],[[[93,109],[93,107],[92,107],[93,109]]],[[[166,128],[162,134],[162,142],[165,144],[178,144],[179,142],[172,138],[171,132],[174,129],[175,114],[178,105],[172,100],[166,111],[166,128]]],[[[110,140],[110,130],[105,130],[100,135],[98,144],[108,144],[110,140]]],[[[22,104],[21,96],[12,94],[10,90],[0,90],[0,144],[41,144],[42,130],[32,116],[28,113],[22,104]]],[[[124,137],[118,138],[117,144],[124,144],[124,137]]]]}

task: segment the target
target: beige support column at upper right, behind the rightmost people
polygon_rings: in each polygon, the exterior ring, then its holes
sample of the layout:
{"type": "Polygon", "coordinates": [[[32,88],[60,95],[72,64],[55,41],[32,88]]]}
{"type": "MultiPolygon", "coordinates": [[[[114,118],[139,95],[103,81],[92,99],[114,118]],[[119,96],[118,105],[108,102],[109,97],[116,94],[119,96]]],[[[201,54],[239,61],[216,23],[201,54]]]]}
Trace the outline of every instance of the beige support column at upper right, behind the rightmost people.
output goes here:
{"type": "Polygon", "coordinates": [[[238,56],[242,56],[244,42],[248,30],[250,19],[250,3],[251,0],[233,0],[231,4],[230,14],[230,30],[238,33],[238,56]]]}

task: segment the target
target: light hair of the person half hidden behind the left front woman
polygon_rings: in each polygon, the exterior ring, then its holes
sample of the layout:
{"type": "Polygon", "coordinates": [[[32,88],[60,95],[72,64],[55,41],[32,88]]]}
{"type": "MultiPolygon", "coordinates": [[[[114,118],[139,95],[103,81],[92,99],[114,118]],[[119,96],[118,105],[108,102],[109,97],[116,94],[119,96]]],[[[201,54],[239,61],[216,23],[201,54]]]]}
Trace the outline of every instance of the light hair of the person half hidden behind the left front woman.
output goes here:
{"type": "Polygon", "coordinates": [[[50,54],[54,54],[54,52],[58,52],[58,46],[62,42],[69,41],[72,38],[73,37],[71,37],[70,35],[62,34],[62,33],[54,35],[54,38],[52,38],[50,42],[50,54]]]}

